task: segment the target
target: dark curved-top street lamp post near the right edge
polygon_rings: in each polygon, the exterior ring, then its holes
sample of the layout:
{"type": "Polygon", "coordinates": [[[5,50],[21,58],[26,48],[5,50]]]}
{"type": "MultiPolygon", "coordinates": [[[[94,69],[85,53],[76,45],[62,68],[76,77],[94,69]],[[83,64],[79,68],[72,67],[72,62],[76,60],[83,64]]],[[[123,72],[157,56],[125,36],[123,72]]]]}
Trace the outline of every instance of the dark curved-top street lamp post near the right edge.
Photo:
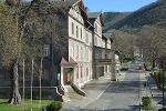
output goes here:
{"type": "MultiPolygon", "coordinates": [[[[163,61],[162,61],[162,59],[159,59],[159,58],[156,58],[156,59],[154,59],[154,62],[155,62],[155,60],[159,60],[159,62],[160,62],[160,68],[162,68],[162,73],[163,73],[163,108],[164,108],[164,63],[163,63],[163,61]]],[[[155,69],[156,68],[156,65],[155,64],[153,64],[153,69],[155,69]]],[[[159,74],[160,74],[160,69],[159,69],[159,74]]]]}

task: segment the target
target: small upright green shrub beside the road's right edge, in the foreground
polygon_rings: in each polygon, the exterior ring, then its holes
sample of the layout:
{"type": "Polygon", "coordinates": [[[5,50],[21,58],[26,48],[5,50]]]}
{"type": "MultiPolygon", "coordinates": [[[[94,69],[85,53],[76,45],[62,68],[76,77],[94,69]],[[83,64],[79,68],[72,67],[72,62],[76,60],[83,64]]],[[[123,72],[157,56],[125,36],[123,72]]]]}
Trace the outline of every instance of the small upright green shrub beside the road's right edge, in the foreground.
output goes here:
{"type": "Polygon", "coordinates": [[[143,97],[142,102],[143,102],[143,109],[145,110],[152,109],[152,100],[149,97],[143,97]]]}

